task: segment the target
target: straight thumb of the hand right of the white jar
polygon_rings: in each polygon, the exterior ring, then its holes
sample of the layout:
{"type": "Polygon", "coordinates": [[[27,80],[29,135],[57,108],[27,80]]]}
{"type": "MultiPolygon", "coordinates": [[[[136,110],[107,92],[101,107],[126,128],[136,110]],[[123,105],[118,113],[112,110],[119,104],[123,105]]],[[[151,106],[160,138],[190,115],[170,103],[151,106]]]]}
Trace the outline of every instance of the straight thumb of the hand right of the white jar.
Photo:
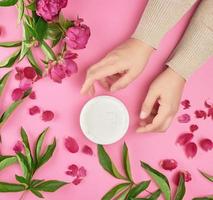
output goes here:
{"type": "Polygon", "coordinates": [[[141,119],[145,119],[151,114],[158,97],[159,96],[157,95],[157,93],[150,88],[142,104],[141,113],[140,113],[141,119]]]}

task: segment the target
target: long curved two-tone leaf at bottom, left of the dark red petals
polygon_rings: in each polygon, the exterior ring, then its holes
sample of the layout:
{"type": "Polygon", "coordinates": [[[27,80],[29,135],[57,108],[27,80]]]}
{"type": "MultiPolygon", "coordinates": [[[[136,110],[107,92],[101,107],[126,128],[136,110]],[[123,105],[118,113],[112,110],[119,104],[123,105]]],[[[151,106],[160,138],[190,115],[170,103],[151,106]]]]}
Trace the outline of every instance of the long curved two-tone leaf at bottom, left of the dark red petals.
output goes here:
{"type": "Polygon", "coordinates": [[[171,199],[171,191],[169,186],[169,181],[162,173],[153,169],[151,166],[146,164],[145,162],[141,162],[141,166],[145,169],[145,171],[153,178],[153,180],[159,185],[162,193],[164,194],[165,200],[171,199]]]}

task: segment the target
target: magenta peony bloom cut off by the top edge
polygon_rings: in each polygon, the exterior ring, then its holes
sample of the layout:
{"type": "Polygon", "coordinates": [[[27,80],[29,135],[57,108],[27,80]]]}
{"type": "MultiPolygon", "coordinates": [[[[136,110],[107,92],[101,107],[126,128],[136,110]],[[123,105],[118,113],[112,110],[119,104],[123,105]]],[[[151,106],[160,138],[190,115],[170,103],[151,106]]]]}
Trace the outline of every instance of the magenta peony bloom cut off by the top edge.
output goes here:
{"type": "Polygon", "coordinates": [[[52,21],[59,15],[62,8],[67,6],[68,0],[37,0],[36,13],[46,21],[52,21]]]}

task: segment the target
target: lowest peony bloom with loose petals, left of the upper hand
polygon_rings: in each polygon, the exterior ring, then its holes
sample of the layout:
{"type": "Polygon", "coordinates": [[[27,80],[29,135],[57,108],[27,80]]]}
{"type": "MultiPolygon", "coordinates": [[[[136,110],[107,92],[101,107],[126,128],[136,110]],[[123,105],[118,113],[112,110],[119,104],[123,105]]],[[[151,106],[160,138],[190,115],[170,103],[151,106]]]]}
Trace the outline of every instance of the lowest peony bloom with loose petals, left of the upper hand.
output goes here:
{"type": "Polygon", "coordinates": [[[77,54],[66,51],[59,63],[50,63],[48,71],[50,78],[57,83],[61,83],[64,78],[77,73],[78,66],[74,62],[75,58],[77,58],[77,54]]]}

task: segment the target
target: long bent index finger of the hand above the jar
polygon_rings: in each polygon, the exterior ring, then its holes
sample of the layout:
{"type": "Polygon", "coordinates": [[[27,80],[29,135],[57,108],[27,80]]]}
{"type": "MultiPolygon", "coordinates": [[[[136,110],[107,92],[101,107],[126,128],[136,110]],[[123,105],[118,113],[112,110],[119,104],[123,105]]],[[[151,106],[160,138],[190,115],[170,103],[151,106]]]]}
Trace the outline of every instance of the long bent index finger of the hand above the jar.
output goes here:
{"type": "Polygon", "coordinates": [[[100,80],[107,76],[116,74],[120,70],[120,67],[121,66],[119,64],[112,64],[103,65],[95,69],[90,69],[81,89],[81,93],[86,94],[96,80],[100,80]]]}

